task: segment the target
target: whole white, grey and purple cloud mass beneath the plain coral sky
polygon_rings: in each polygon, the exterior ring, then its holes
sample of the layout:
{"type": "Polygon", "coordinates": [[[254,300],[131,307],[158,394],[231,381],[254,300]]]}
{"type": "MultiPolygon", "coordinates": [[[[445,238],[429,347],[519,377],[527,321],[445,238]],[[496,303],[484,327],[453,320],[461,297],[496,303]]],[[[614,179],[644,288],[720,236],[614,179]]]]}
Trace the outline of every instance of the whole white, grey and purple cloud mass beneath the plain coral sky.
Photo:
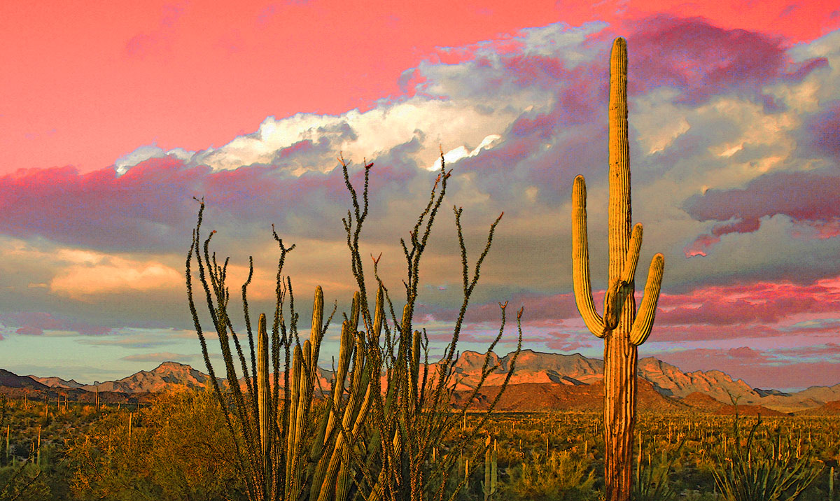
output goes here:
{"type": "MultiPolygon", "coordinates": [[[[259,15],[270,22],[281,8],[259,15]]],[[[666,258],[651,338],[657,346],[737,336],[765,342],[833,328],[837,36],[790,46],[701,18],[663,16],[627,34],[633,216],[645,225],[639,292],[651,254],[666,258]]],[[[463,340],[486,344],[498,302],[509,300],[513,309],[525,305],[529,342],[599,356],[600,342],[585,331],[570,294],[570,191],[575,175],[585,175],[592,287],[602,290],[611,38],[604,23],[523,29],[441,48],[402,73],[404,95],[367,111],[266,117],[218,148],[141,145],[112,169],[87,174],[62,167],[0,177],[0,232],[20,246],[6,249],[0,268],[29,274],[9,279],[0,297],[9,308],[59,305],[68,318],[76,308],[78,318],[107,329],[148,321],[148,308],[138,305],[153,301],[162,326],[189,328],[181,267],[198,209],[192,197],[203,196],[203,235],[218,230],[213,249],[232,256],[234,288],[254,256],[255,311],[271,308],[271,224],[298,244],[286,271],[299,280],[299,294],[322,284],[346,310],[354,282],[340,222],[349,206],[336,159],[343,154],[357,189],[363,159],[374,163],[362,253],[382,253],[380,271],[398,308],[399,238],[426,205],[436,176],[429,170],[444,151],[453,175],[424,254],[418,325],[448,340],[459,306],[450,206],[465,208],[470,266],[504,211],[463,340]]],[[[45,331],[38,322],[13,329],[45,331]]],[[[755,357],[740,347],[766,355],[744,342],[727,346],[735,351],[726,357],[755,357]]]]}

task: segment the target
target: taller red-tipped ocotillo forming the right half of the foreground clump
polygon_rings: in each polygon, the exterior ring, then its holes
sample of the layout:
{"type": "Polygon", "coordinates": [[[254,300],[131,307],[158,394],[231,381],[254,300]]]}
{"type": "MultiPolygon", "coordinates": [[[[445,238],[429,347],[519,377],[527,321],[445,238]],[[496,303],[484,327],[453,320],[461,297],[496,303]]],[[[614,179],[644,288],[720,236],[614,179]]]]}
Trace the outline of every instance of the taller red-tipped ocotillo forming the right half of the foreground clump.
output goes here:
{"type": "MultiPolygon", "coordinates": [[[[365,182],[361,197],[357,196],[354,186],[350,182],[348,166],[343,159],[342,166],[344,181],[350,191],[353,203],[353,210],[348,211],[348,215],[344,219],[344,228],[347,232],[351,267],[360,290],[361,304],[363,305],[362,320],[365,325],[370,325],[372,317],[370,311],[364,307],[367,304],[365,299],[365,273],[359,248],[360,230],[368,214],[370,165],[365,165],[365,182]],[[361,203],[359,203],[359,198],[361,198],[361,203]]],[[[501,220],[501,215],[491,225],[484,249],[475,262],[475,268],[470,270],[461,227],[462,211],[460,208],[454,207],[455,227],[461,250],[461,305],[459,315],[454,322],[452,338],[444,349],[444,357],[430,368],[428,363],[428,337],[425,331],[414,330],[413,312],[417,302],[417,291],[420,289],[421,258],[427,248],[438,209],[443,202],[449,175],[450,173],[445,170],[444,159],[441,158],[441,172],[435,181],[428,204],[417,218],[412,231],[409,232],[410,240],[401,240],[402,251],[407,263],[407,279],[403,281],[406,302],[402,308],[402,316],[396,316],[391,296],[377,273],[378,258],[374,260],[374,277],[380,290],[384,291],[386,310],[390,311],[391,328],[389,326],[385,327],[384,347],[372,343],[368,345],[372,363],[375,367],[382,368],[386,375],[386,388],[384,389],[380,387],[379,379],[371,380],[371,384],[375,385],[376,389],[371,392],[374,435],[370,450],[375,453],[376,467],[379,468],[379,471],[378,476],[371,476],[371,478],[375,478],[375,483],[370,488],[369,501],[379,499],[386,501],[444,499],[449,473],[455,462],[465,452],[466,446],[486,425],[491,411],[498,403],[504,389],[507,388],[519,349],[522,346],[520,324],[522,310],[520,310],[517,313],[517,330],[519,332],[517,351],[512,357],[507,377],[501,385],[501,391],[496,394],[489,410],[480,416],[475,425],[456,437],[454,443],[449,447],[449,451],[441,455],[436,462],[430,464],[429,460],[433,457],[435,447],[439,445],[444,436],[456,429],[459,417],[463,418],[467,407],[479,394],[487,376],[496,369],[496,367],[491,367],[490,356],[504,331],[505,309],[507,307],[507,303],[499,304],[501,307],[501,327],[486,353],[479,383],[470,392],[469,398],[465,400],[464,407],[459,409],[459,413],[453,413],[450,408],[450,401],[454,391],[452,376],[457,358],[455,356],[456,345],[464,324],[467,305],[469,305],[470,297],[478,282],[481,264],[484,262],[487,253],[490,252],[493,233],[501,220]],[[424,358],[422,370],[420,367],[421,355],[424,358]]],[[[466,464],[469,464],[470,459],[479,458],[484,452],[485,450],[474,451],[466,459],[466,464]]],[[[365,482],[368,481],[366,472],[364,480],[365,482]]],[[[461,488],[465,488],[466,483],[467,476],[459,483],[456,493],[461,488]]]]}

